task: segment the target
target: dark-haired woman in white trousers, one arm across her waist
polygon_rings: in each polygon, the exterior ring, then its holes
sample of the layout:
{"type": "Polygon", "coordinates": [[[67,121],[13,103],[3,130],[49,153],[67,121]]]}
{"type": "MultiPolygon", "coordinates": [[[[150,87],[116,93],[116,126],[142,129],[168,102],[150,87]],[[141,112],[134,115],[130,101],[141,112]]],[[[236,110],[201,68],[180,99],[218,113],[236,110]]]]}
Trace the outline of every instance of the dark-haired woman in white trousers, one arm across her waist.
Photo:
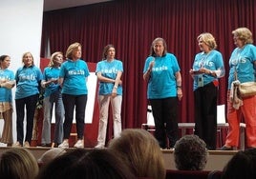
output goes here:
{"type": "Polygon", "coordinates": [[[122,62],[115,58],[115,54],[114,46],[107,45],[103,50],[103,59],[96,64],[96,76],[99,81],[97,149],[105,147],[110,103],[113,114],[114,137],[118,137],[121,132],[122,86],[120,78],[123,67],[122,62]]]}

